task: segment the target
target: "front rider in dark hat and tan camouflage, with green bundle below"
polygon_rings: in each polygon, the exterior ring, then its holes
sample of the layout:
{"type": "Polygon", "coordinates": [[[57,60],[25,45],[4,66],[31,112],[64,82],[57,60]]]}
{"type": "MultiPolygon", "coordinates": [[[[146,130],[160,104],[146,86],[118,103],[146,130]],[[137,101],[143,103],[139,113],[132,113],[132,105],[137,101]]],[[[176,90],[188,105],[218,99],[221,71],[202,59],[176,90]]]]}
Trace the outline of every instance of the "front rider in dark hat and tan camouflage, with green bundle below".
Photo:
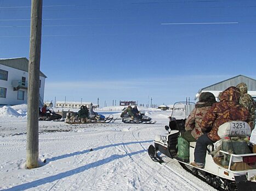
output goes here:
{"type": "Polygon", "coordinates": [[[178,160],[189,162],[189,142],[195,142],[203,134],[200,124],[214,103],[216,103],[216,99],[213,93],[201,93],[195,108],[186,119],[186,131],[181,132],[181,136],[178,138],[178,160]]]}

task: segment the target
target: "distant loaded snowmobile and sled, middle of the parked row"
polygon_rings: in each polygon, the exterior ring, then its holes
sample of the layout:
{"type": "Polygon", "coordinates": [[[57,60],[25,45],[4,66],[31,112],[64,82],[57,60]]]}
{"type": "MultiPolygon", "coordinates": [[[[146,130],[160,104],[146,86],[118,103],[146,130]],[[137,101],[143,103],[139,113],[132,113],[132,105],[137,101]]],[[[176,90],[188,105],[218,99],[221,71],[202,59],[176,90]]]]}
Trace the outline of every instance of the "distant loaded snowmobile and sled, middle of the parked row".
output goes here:
{"type": "Polygon", "coordinates": [[[110,123],[114,122],[116,119],[113,119],[113,115],[110,114],[109,117],[105,117],[103,115],[98,115],[95,113],[94,115],[89,115],[86,119],[81,119],[78,117],[77,112],[67,112],[67,117],[65,119],[65,123],[69,124],[84,124],[84,123],[110,123]],[[96,114],[96,115],[95,115],[96,114]]]}

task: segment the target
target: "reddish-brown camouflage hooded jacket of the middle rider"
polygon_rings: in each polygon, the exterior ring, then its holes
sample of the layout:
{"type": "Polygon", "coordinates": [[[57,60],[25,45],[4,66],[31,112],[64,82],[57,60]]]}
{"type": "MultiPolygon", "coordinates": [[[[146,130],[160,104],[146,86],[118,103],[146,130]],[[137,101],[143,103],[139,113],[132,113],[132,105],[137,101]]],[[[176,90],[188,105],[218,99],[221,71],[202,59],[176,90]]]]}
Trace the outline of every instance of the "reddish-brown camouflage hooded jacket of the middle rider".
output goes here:
{"type": "Polygon", "coordinates": [[[204,116],[201,128],[202,130],[210,130],[209,139],[212,141],[220,140],[218,135],[219,126],[229,121],[246,121],[249,112],[243,108],[238,102],[240,98],[239,89],[231,86],[225,89],[220,95],[220,102],[213,104],[204,116]]]}

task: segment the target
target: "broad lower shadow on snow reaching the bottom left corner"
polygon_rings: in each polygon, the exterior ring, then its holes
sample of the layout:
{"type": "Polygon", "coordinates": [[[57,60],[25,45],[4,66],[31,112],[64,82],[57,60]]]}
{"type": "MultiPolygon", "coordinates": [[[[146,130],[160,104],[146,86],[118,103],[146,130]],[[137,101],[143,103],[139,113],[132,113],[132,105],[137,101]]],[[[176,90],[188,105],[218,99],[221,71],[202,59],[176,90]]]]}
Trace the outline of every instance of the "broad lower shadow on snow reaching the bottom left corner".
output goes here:
{"type": "Polygon", "coordinates": [[[109,163],[109,162],[111,162],[113,160],[116,160],[116,159],[121,159],[121,158],[124,158],[124,157],[127,157],[127,156],[133,156],[135,154],[140,154],[140,153],[143,153],[143,152],[145,152],[145,150],[140,150],[140,151],[136,151],[136,152],[132,152],[132,153],[127,153],[127,154],[123,154],[123,155],[122,154],[113,154],[110,157],[98,160],[96,162],[93,162],[93,163],[90,163],[90,164],[87,164],[87,165],[84,165],[84,166],[81,166],[81,167],[78,167],[76,169],[72,169],[72,170],[69,170],[69,171],[66,171],[66,172],[61,172],[60,174],[57,174],[57,175],[41,178],[41,179],[36,180],[36,181],[27,182],[27,183],[20,184],[18,186],[14,186],[12,188],[3,189],[3,190],[5,190],[5,191],[7,191],[7,190],[8,191],[14,191],[14,190],[30,189],[30,188],[33,188],[33,187],[40,186],[42,184],[54,182],[56,180],[60,180],[60,179],[65,178],[65,177],[69,177],[69,176],[78,174],[80,172],[83,172],[83,171],[91,169],[91,168],[95,168],[97,166],[101,166],[103,164],[109,163]]]}

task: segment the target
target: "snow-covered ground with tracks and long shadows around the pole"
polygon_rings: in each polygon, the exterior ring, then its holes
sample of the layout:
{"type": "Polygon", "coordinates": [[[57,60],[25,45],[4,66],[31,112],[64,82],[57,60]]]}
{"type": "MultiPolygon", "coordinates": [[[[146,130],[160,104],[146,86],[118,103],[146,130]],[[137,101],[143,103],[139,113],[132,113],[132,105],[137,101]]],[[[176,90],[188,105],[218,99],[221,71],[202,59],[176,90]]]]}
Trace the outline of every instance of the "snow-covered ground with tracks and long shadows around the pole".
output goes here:
{"type": "MultiPolygon", "coordinates": [[[[157,123],[39,122],[39,158],[47,162],[27,170],[26,105],[0,108],[0,189],[215,190],[175,160],[162,156],[161,165],[150,159],[147,147],[155,134],[165,133],[170,111],[146,115],[157,123]]],[[[184,112],[173,116],[183,118],[184,112]]]]}

